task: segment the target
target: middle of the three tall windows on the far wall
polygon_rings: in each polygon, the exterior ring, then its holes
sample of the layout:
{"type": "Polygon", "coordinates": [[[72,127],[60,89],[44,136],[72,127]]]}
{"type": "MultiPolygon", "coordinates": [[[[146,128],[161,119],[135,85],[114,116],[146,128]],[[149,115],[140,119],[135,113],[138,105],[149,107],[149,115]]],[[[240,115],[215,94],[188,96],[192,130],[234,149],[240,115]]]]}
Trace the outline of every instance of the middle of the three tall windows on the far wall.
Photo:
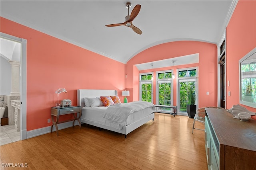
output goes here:
{"type": "MultiPolygon", "coordinates": [[[[157,88],[156,88],[156,104],[173,105],[173,85],[172,85],[172,70],[156,72],[157,88]]],[[[161,108],[161,111],[170,112],[170,108],[161,108]]]]}

